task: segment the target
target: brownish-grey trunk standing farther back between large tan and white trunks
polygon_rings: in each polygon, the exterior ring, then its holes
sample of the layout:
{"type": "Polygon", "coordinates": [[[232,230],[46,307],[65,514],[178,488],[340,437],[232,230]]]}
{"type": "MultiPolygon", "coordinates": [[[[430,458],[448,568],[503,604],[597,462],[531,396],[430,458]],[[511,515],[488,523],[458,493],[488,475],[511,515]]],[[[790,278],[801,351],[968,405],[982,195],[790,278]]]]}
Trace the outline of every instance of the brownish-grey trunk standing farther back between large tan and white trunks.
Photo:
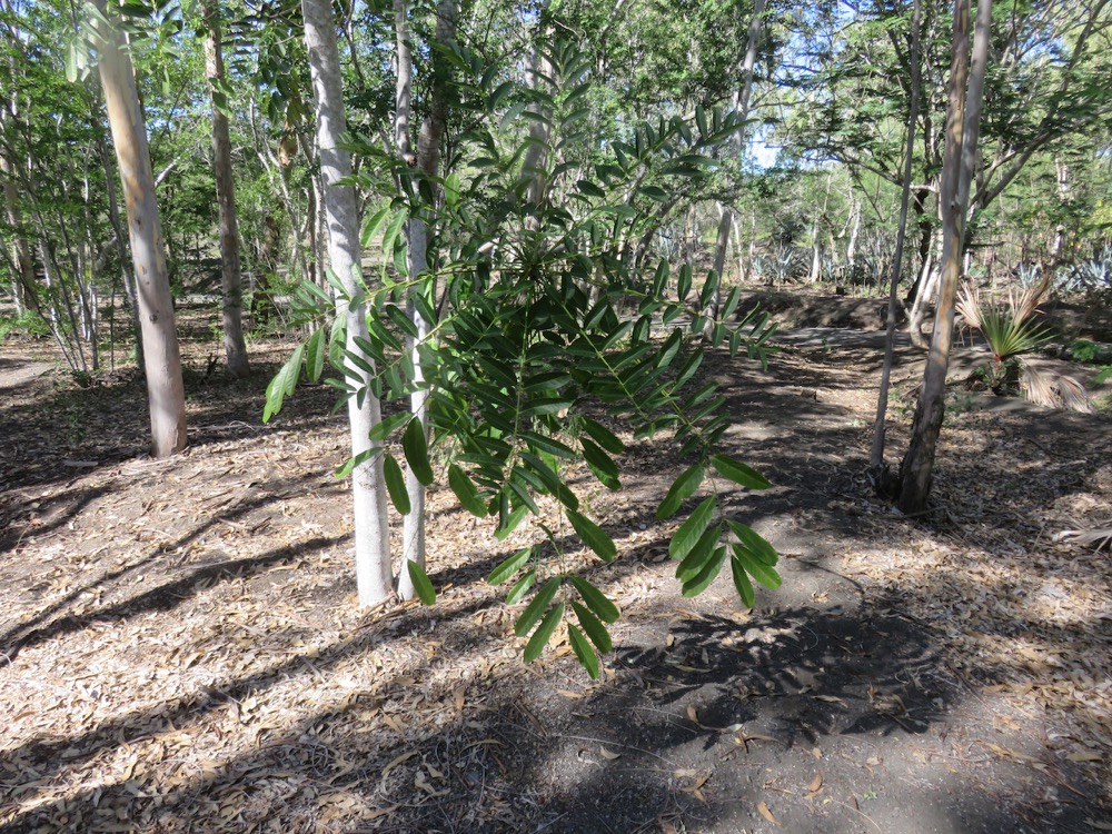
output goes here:
{"type": "Polygon", "coordinates": [[[220,20],[212,0],[201,4],[205,27],[205,75],[212,97],[212,176],[220,222],[220,289],[224,304],[224,353],[228,374],[239,379],[250,373],[247,344],[244,341],[244,278],[239,266],[239,224],[236,219],[236,185],[231,177],[231,138],[228,117],[218,102],[218,85],[224,81],[224,56],[220,50],[220,20]]]}

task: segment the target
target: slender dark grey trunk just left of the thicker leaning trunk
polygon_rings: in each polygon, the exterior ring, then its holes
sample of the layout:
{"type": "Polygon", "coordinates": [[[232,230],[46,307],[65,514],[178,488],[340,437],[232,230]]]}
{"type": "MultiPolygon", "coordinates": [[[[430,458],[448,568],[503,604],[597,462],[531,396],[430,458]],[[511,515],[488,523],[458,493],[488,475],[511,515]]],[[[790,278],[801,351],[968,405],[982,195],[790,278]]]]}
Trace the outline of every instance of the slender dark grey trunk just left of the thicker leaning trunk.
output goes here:
{"type": "Polygon", "coordinates": [[[896,228],[896,251],[892,257],[892,284],[888,287],[887,330],[884,335],[884,364],[881,367],[881,390],[876,400],[876,423],[873,426],[873,446],[868,467],[874,485],[887,490],[884,469],[884,429],[888,410],[888,386],[892,360],[895,354],[896,310],[900,308],[900,271],[903,265],[904,238],[907,234],[907,210],[911,203],[911,179],[915,161],[915,122],[919,120],[920,63],[919,44],[922,26],[922,0],[914,0],[911,34],[911,106],[907,113],[907,143],[904,147],[904,181],[900,193],[900,225],[896,228]]]}

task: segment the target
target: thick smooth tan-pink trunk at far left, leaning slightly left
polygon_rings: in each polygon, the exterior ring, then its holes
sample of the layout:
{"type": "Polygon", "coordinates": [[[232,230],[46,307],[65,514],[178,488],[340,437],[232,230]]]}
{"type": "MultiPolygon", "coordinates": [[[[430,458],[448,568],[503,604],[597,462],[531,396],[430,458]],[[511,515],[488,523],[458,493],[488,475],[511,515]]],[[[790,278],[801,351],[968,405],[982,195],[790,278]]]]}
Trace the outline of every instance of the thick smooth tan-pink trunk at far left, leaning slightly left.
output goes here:
{"type": "MultiPolygon", "coordinates": [[[[105,13],[103,2],[99,8],[105,13]]],[[[167,457],[186,446],[186,396],[147,126],[131,58],[121,44],[119,29],[100,32],[100,82],[127,205],[150,405],[151,453],[167,457]]]]}

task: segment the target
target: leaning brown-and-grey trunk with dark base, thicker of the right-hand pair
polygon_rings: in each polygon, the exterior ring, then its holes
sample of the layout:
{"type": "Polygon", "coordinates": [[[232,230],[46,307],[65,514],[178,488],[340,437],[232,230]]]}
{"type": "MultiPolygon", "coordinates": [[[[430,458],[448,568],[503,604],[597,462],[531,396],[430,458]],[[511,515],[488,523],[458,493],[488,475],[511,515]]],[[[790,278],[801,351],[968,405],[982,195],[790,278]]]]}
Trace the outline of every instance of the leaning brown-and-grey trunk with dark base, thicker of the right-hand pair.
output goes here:
{"type": "Polygon", "coordinates": [[[931,353],[923,375],[923,388],[915,409],[911,444],[900,470],[900,509],[919,514],[926,509],[931,494],[934,457],[945,411],[946,371],[954,331],[954,301],[961,272],[965,235],[965,212],[970,183],[976,163],[984,77],[989,62],[992,0],[979,0],[973,39],[972,70],[969,58],[969,6],[957,0],[954,9],[954,57],[946,116],[946,147],[942,169],[943,215],[942,278],[934,315],[931,353]],[[966,77],[969,88],[966,90],[966,77]]]}

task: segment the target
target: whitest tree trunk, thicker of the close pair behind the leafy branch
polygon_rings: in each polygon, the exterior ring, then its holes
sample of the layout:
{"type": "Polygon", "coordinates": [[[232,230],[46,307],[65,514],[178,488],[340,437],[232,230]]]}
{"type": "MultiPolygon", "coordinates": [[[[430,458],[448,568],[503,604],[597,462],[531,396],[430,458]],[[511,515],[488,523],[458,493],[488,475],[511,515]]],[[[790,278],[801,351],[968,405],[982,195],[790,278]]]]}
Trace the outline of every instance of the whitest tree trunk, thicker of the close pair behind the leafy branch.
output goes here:
{"type": "MultiPolygon", "coordinates": [[[[355,189],[339,180],[351,175],[351,158],[339,147],[345,130],[344,91],[340,83],[340,56],[336,41],[336,22],[328,0],[301,0],[305,18],[305,46],[309,52],[309,75],[317,111],[317,146],[320,155],[320,177],[326,222],[328,225],[328,260],[344,285],[345,292],[354,298],[358,282],[354,270],[359,268],[359,217],[356,210],[355,189]]],[[[367,339],[367,306],[338,301],[347,322],[347,349],[361,353],[357,338],[367,339]]],[[[365,387],[368,379],[364,371],[350,368],[349,383],[365,387]]],[[[359,455],[371,447],[370,430],[381,419],[378,398],[368,389],[360,404],[358,397],[348,398],[348,421],[351,429],[351,455],[359,455]]],[[[386,481],[383,477],[383,456],[375,455],[351,473],[351,493],[355,510],[356,585],[359,604],[378,605],[390,594],[390,542],[386,515],[386,481]]]]}

